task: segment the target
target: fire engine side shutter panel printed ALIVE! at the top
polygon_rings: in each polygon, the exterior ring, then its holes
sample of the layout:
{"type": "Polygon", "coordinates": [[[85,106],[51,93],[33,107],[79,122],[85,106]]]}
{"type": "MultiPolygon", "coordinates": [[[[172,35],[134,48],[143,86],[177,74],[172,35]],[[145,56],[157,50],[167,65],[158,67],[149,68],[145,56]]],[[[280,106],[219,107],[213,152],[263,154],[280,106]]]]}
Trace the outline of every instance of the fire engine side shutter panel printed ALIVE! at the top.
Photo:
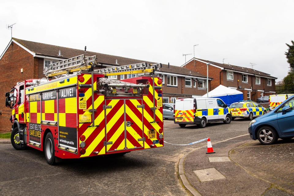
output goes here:
{"type": "Polygon", "coordinates": [[[58,143],[77,148],[77,89],[76,86],[58,92],[58,143]]]}

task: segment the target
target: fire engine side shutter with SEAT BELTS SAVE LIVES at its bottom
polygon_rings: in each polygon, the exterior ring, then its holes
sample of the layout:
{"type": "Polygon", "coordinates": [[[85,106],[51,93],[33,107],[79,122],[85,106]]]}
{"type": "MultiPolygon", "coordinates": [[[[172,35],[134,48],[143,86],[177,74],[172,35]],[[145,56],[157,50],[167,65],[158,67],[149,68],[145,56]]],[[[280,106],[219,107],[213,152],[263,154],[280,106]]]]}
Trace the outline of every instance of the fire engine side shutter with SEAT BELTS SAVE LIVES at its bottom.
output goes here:
{"type": "Polygon", "coordinates": [[[41,96],[29,95],[29,141],[41,144],[41,96]]]}

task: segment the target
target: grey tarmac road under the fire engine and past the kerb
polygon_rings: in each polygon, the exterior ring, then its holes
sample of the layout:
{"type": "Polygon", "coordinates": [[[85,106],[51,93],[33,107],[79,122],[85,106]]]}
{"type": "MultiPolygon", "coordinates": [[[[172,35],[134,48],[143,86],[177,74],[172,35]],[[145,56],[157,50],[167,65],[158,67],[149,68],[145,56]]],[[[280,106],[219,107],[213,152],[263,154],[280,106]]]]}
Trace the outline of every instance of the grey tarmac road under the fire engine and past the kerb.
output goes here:
{"type": "MultiPolygon", "coordinates": [[[[213,144],[247,134],[249,121],[211,123],[203,129],[180,128],[172,120],[164,123],[165,128],[176,127],[164,130],[169,143],[188,144],[209,137],[213,144]]],[[[43,152],[0,144],[0,195],[190,195],[179,179],[177,164],[184,153],[206,145],[205,141],[187,146],[165,143],[163,148],[124,156],[63,160],[51,166],[43,152]]]]}

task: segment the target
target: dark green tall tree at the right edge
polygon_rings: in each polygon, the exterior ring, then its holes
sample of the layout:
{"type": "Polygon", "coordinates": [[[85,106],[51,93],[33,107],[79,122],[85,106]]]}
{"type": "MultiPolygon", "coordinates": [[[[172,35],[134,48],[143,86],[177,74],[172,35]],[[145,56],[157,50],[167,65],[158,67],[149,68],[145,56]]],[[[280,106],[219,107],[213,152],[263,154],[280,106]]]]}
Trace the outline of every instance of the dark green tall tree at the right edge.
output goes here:
{"type": "Polygon", "coordinates": [[[288,52],[285,52],[286,58],[288,59],[287,62],[290,65],[290,70],[288,75],[284,77],[284,89],[286,93],[293,93],[294,92],[294,41],[291,40],[292,45],[288,46],[288,52]]]}

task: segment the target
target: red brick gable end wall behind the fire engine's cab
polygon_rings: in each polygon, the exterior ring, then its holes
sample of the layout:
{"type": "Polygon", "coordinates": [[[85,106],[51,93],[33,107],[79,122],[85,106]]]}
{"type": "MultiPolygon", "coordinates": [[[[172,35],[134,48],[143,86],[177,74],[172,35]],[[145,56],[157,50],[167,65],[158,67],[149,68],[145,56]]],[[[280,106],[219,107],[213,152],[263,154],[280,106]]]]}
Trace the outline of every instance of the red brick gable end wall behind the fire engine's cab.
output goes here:
{"type": "Polygon", "coordinates": [[[34,57],[19,47],[16,43],[9,46],[5,54],[0,60],[1,73],[1,93],[0,93],[0,131],[10,131],[12,123],[9,118],[11,116],[11,109],[5,107],[5,92],[9,92],[13,85],[25,79],[37,78],[38,70],[34,67],[34,57]],[[23,73],[21,73],[23,68],[23,73]]]}

